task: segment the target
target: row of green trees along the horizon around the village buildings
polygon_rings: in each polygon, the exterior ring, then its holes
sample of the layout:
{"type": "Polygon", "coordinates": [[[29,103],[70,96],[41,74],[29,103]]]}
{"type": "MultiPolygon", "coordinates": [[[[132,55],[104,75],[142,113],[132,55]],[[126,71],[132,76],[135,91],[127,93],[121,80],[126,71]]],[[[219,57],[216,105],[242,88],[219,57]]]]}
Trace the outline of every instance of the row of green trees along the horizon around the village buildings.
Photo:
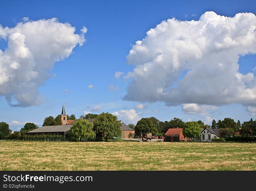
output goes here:
{"type": "MultiPolygon", "coordinates": [[[[68,120],[76,120],[74,114],[68,116],[68,120]]],[[[52,125],[62,125],[61,115],[45,117],[43,126],[52,126],[52,125]]],[[[196,122],[184,122],[182,119],[174,117],[170,121],[160,121],[155,117],[146,117],[140,119],[137,124],[128,124],[132,128],[136,135],[145,135],[145,133],[152,133],[152,135],[163,136],[169,128],[183,128],[184,132],[186,128],[190,126],[198,131],[201,131],[201,128],[218,128],[219,136],[223,138],[232,137],[236,132],[240,133],[242,137],[255,137],[256,136],[256,119],[250,119],[245,121],[242,124],[238,120],[237,122],[231,118],[224,118],[223,120],[215,121],[212,120],[212,124],[205,124],[201,120],[196,122]],[[198,128],[199,127],[199,128],[198,128]]],[[[1,139],[24,139],[26,132],[38,128],[34,123],[26,123],[20,131],[15,131],[10,134],[9,124],[6,122],[0,123],[0,138],[1,139]]],[[[186,133],[185,133],[186,134],[186,133]]],[[[86,137],[89,140],[102,140],[104,138],[106,141],[110,138],[118,138],[121,136],[120,123],[117,121],[117,117],[110,113],[102,114],[91,114],[80,115],[79,119],[74,123],[70,130],[70,135],[74,140],[81,140],[81,138],[86,137]],[[85,119],[95,118],[94,123],[89,123],[85,119]]],[[[195,133],[194,135],[197,135],[195,133]]],[[[192,136],[192,135],[189,135],[192,136]]],[[[197,136],[193,136],[197,137],[197,136]]]]}

